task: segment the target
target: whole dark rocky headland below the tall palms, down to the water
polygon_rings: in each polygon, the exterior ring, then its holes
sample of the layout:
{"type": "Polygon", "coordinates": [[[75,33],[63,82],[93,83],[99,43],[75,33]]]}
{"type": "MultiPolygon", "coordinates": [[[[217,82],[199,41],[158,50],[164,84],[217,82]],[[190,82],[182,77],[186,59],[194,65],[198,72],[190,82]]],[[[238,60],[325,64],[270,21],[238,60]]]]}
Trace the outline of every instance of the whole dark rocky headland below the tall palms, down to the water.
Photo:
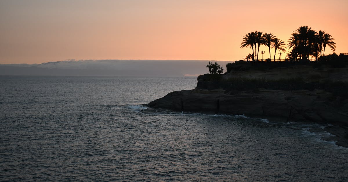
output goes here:
{"type": "Polygon", "coordinates": [[[163,108],[327,123],[311,132],[330,132],[336,136],[325,140],[348,147],[348,68],[275,64],[241,61],[224,75],[200,75],[195,89],[168,93],[144,112],[163,108]]]}

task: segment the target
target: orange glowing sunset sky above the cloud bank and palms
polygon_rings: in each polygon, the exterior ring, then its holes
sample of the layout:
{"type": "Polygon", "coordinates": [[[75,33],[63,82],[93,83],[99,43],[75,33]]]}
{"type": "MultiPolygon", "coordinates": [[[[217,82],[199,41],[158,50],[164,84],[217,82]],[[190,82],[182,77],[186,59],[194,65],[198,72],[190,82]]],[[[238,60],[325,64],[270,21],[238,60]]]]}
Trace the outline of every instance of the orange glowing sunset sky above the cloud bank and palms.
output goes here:
{"type": "Polygon", "coordinates": [[[326,31],[335,52],[348,53],[347,8],[347,0],[1,0],[0,63],[234,61],[252,53],[240,48],[246,33],[272,32],[287,43],[303,25],[326,31]]]}

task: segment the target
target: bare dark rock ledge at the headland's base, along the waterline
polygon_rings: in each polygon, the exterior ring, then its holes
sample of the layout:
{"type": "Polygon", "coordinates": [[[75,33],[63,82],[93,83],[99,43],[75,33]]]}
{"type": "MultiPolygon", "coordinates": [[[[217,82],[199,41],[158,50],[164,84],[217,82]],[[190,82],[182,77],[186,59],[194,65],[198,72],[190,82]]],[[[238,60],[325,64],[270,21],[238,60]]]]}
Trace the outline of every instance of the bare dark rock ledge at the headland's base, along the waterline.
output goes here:
{"type": "Polygon", "coordinates": [[[325,139],[348,147],[348,101],[324,90],[208,91],[196,88],[168,93],[147,106],[152,109],[164,108],[173,111],[274,116],[284,121],[307,120],[328,123],[332,126],[324,130],[334,134],[335,137],[325,139]]]}

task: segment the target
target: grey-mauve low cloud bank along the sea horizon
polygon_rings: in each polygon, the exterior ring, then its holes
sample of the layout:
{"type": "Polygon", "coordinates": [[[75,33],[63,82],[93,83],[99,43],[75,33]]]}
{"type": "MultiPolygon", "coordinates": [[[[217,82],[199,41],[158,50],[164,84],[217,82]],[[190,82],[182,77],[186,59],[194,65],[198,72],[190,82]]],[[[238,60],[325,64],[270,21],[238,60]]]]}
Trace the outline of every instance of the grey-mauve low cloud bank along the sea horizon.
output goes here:
{"type": "MultiPolygon", "coordinates": [[[[226,71],[228,61],[217,61],[226,71]]],[[[0,65],[0,75],[196,76],[208,72],[198,60],[69,60],[0,65]]]]}

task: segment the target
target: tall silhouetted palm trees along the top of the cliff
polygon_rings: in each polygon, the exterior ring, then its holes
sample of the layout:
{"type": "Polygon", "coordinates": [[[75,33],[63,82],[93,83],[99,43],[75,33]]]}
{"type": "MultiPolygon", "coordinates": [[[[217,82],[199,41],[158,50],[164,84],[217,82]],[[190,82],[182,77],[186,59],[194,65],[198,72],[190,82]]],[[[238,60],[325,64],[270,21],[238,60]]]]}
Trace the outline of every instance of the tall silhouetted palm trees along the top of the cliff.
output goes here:
{"type": "MultiPolygon", "coordinates": [[[[247,33],[243,38],[242,46],[240,47],[250,47],[252,49],[252,54],[248,54],[246,61],[250,59],[252,61],[259,60],[259,50],[260,45],[265,45],[268,47],[269,58],[271,59],[271,48],[275,49],[273,60],[275,61],[277,50],[279,51],[279,56],[282,55],[280,51],[285,52],[285,42],[276,38],[273,33],[262,33],[259,31],[254,31],[247,33]],[[254,50],[255,48],[255,50],[254,50]]],[[[308,26],[301,26],[292,33],[289,38],[287,48],[290,48],[290,52],[286,55],[286,59],[289,61],[298,60],[309,60],[309,56],[313,56],[316,61],[324,55],[325,48],[329,47],[332,51],[335,51],[334,38],[329,33],[325,31],[315,31],[308,26]]],[[[262,52],[264,53],[264,52],[262,52]]],[[[263,60],[261,60],[263,61],[263,60]]]]}

